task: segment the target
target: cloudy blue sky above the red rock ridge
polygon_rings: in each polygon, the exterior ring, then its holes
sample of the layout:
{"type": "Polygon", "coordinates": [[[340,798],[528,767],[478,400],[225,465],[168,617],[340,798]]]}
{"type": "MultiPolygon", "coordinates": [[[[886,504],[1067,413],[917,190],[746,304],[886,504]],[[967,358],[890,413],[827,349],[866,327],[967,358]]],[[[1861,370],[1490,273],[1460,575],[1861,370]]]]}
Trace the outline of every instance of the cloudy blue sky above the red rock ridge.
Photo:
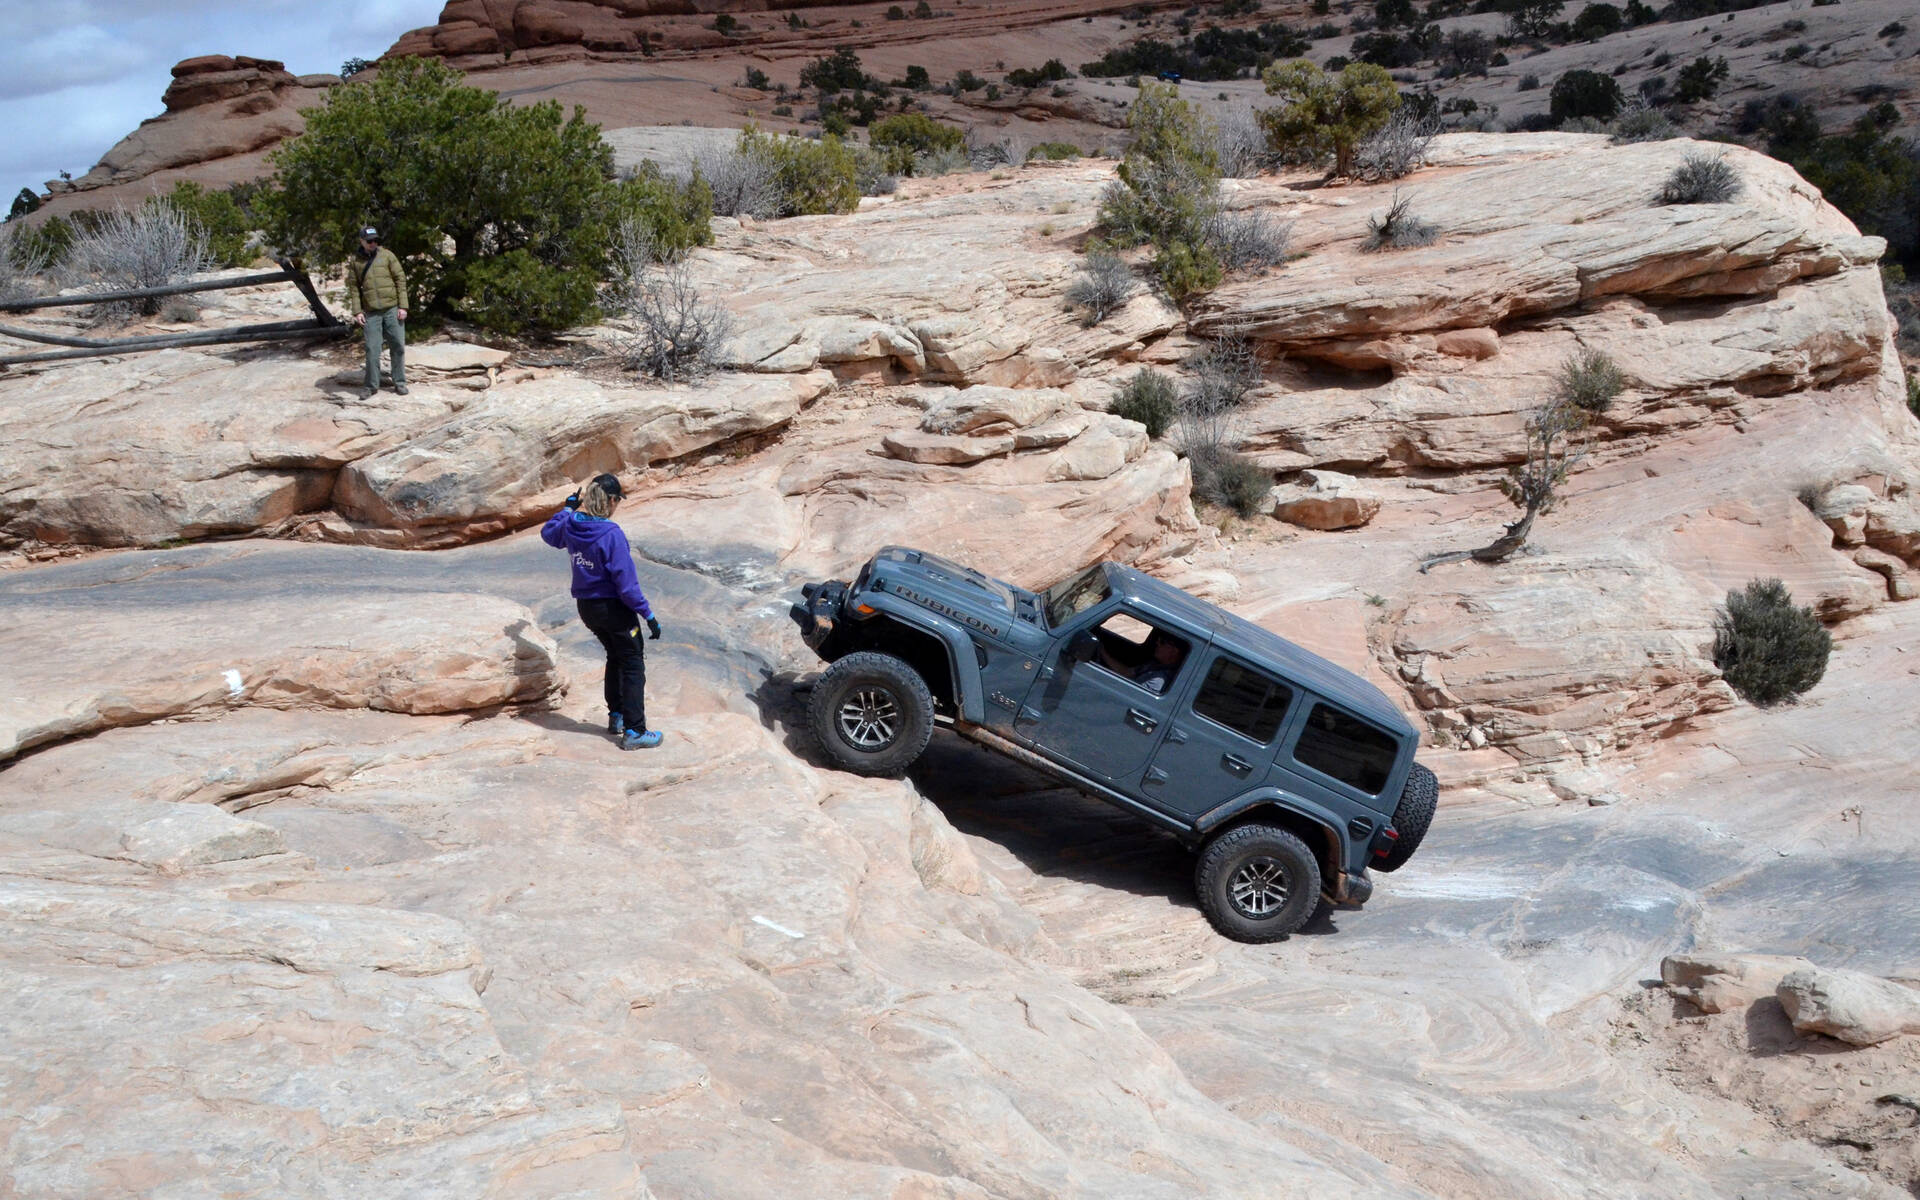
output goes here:
{"type": "MultiPolygon", "coordinates": [[[[294,75],[378,58],[442,0],[0,0],[0,205],[84,175],[163,111],[173,63],[252,54],[294,75]]],[[[4,215],[4,209],[0,209],[4,215]]]]}

